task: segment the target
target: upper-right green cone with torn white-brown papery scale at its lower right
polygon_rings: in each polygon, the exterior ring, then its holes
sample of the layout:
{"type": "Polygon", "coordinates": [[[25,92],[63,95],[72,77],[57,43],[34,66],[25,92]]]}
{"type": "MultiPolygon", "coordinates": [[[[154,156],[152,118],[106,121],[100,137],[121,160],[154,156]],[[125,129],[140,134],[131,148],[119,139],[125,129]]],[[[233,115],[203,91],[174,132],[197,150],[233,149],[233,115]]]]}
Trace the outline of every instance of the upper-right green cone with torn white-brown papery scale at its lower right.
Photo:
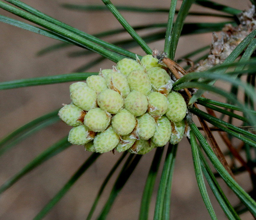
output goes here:
{"type": "Polygon", "coordinates": [[[152,83],[152,89],[156,92],[168,94],[172,88],[172,80],[169,74],[160,67],[153,67],[148,70],[148,77],[152,83]],[[166,91],[163,91],[166,90],[166,91]]]}

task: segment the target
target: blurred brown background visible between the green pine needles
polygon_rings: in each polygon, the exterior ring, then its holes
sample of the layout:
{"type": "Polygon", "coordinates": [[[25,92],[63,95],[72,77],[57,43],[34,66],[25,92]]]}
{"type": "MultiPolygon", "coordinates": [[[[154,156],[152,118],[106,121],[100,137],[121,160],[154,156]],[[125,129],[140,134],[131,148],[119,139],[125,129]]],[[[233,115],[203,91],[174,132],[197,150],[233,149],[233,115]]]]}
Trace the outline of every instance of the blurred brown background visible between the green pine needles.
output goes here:
{"type": "MultiPolygon", "coordinates": [[[[24,2],[89,34],[121,27],[110,12],[78,12],[60,7],[61,3],[68,3],[68,1],[24,0],[24,2]]],[[[225,0],[218,2],[242,10],[247,9],[250,5],[249,0],[225,0]]],[[[103,4],[100,0],[75,0],[69,3],[103,4]]],[[[113,3],[161,8],[168,8],[170,6],[170,1],[157,0],[131,0],[129,2],[125,0],[115,0],[113,3]]],[[[180,3],[181,1],[178,2],[178,5],[180,5],[180,3]]],[[[195,5],[192,7],[192,10],[209,11],[195,5]]],[[[3,15],[17,18],[3,10],[0,11],[3,15]]],[[[121,13],[133,26],[154,22],[163,23],[167,21],[168,16],[168,13],[121,13]]],[[[188,19],[189,22],[218,22],[221,20],[222,19],[212,17],[189,17],[188,19]]],[[[75,47],[57,50],[45,56],[36,56],[39,50],[55,44],[57,41],[4,23],[0,23],[0,29],[0,81],[70,73],[86,62],[93,61],[97,57],[93,55],[89,57],[80,56],[77,58],[69,58],[67,56],[68,53],[81,50],[75,47]]],[[[145,35],[150,31],[151,30],[139,33],[145,35]]],[[[107,38],[107,40],[113,41],[122,38],[129,38],[129,36],[121,34],[107,38]]],[[[180,38],[176,58],[200,46],[209,45],[210,43],[211,33],[184,36],[180,38]]],[[[150,47],[162,50],[164,41],[151,43],[150,47]]],[[[139,48],[133,48],[132,51],[144,55],[143,51],[139,48]]],[[[104,61],[90,68],[88,71],[97,72],[100,68],[108,69],[111,68],[112,65],[114,65],[114,63],[104,61]]],[[[62,83],[0,91],[0,137],[4,137],[14,129],[42,114],[60,108],[62,103],[70,103],[68,89],[70,84],[71,83],[62,83]]],[[[37,132],[13,147],[0,158],[0,185],[17,173],[22,167],[35,158],[36,155],[68,134],[69,130],[69,126],[65,125],[63,122],[58,122],[37,132]]],[[[221,145],[221,148],[223,150],[226,149],[223,145],[221,145]]],[[[83,146],[71,146],[69,149],[49,161],[46,161],[40,167],[24,176],[0,196],[0,220],[33,219],[90,154],[91,153],[84,151],[83,146]]],[[[153,155],[154,151],[142,157],[135,172],[117,197],[107,219],[133,220],[138,218],[140,199],[153,155]]],[[[44,219],[85,219],[101,183],[119,157],[119,153],[112,155],[112,153],[109,152],[101,155],[95,164],[93,164],[76,184],[73,185],[71,190],[44,219]]],[[[162,165],[160,169],[161,168],[162,165]]],[[[172,219],[210,219],[198,191],[194,176],[191,150],[187,140],[184,139],[178,148],[174,170],[171,198],[172,219]]],[[[159,177],[160,176],[157,177],[157,183],[159,177]]],[[[115,177],[111,179],[105,189],[93,219],[97,217],[102,206],[105,204],[114,181],[115,177]]],[[[251,183],[248,181],[247,173],[237,176],[237,181],[245,190],[248,191],[251,189],[251,183]]],[[[220,181],[220,184],[226,191],[226,195],[231,203],[233,205],[237,204],[238,199],[236,196],[227,188],[223,181],[220,181]]],[[[155,187],[153,193],[149,219],[153,219],[156,193],[157,187],[155,187]]],[[[226,219],[211,191],[209,191],[209,194],[218,219],[226,219]]],[[[243,214],[241,217],[242,219],[253,219],[248,213],[243,214]]]]}

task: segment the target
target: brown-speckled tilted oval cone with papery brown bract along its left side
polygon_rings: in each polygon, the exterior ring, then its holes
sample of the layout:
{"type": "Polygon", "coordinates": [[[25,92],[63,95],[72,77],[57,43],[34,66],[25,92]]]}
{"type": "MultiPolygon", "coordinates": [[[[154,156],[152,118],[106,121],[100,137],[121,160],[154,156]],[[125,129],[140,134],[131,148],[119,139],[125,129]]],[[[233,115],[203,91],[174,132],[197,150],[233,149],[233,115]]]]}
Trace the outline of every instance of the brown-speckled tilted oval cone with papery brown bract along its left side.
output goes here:
{"type": "Polygon", "coordinates": [[[130,93],[130,87],[124,74],[118,72],[110,72],[106,76],[106,83],[109,89],[117,91],[122,97],[126,97],[130,93]]]}

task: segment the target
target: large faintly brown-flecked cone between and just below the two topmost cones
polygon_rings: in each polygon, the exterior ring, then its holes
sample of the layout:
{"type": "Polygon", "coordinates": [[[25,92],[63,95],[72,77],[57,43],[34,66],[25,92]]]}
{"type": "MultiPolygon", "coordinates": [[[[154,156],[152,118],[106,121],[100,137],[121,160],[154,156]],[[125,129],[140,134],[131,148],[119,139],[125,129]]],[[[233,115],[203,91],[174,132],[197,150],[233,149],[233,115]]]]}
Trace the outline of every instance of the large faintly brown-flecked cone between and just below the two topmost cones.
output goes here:
{"type": "Polygon", "coordinates": [[[131,91],[139,91],[144,95],[151,92],[151,83],[144,70],[133,70],[127,76],[131,91]]]}

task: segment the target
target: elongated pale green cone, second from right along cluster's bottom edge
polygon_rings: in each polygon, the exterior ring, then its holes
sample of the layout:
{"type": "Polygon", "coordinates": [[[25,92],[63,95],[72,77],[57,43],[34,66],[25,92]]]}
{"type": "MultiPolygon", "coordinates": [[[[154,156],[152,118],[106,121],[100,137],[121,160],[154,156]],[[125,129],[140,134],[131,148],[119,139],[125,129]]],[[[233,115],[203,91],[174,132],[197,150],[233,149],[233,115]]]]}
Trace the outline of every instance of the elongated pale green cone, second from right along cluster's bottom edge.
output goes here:
{"type": "Polygon", "coordinates": [[[151,141],[155,143],[158,147],[164,146],[171,136],[171,123],[166,116],[162,116],[156,122],[156,130],[154,136],[151,137],[151,141]]]}

